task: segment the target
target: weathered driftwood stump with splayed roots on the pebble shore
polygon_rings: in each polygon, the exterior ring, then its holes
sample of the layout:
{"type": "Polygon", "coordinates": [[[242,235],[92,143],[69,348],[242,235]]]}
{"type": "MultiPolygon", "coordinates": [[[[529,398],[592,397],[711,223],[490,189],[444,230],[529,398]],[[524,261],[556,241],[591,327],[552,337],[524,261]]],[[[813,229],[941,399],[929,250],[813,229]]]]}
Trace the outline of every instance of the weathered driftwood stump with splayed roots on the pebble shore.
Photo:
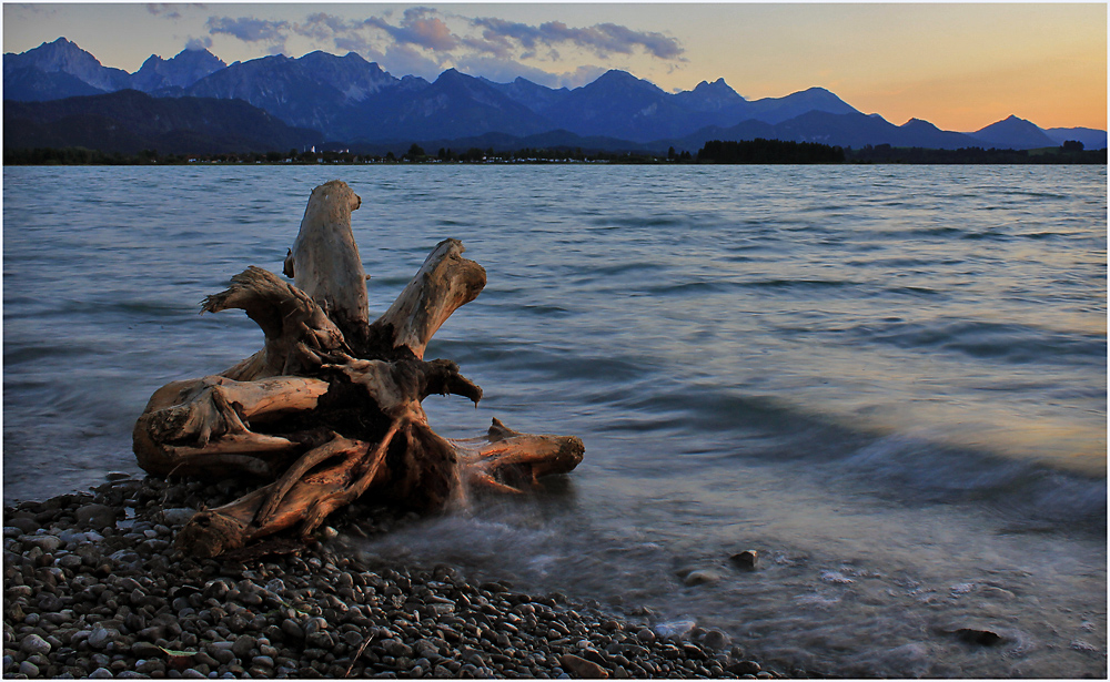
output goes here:
{"type": "Polygon", "coordinates": [[[436,329],[485,286],[485,271],[441,242],[375,322],[351,231],[361,200],[340,181],[312,191],[283,272],[249,267],[204,299],[240,308],[265,345],[212,376],[163,386],[134,427],[139,465],[157,476],[252,476],[258,490],[201,510],[178,547],[215,557],[293,530],[302,538],[363,495],[418,511],[443,509],[472,486],[521,492],[582,461],[575,437],[519,434],[497,419],[482,438],[447,440],[422,400],[482,389],[450,360],[424,359],[436,329]]]}

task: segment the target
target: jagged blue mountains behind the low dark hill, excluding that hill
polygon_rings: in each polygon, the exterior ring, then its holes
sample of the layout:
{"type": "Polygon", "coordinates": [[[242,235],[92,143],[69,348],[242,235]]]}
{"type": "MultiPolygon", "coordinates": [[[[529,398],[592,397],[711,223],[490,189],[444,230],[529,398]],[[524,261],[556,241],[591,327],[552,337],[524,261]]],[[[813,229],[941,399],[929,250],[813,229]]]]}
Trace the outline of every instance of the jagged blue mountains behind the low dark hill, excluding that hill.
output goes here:
{"type": "MultiPolygon", "coordinates": [[[[955,144],[1032,149],[1058,145],[1054,134],[1079,139],[1078,133],[1042,131],[1013,114],[966,139],[920,119],[896,126],[878,114],[858,112],[820,86],[748,101],[724,78],[703,80],[690,91],[672,92],[627,71],[610,69],[581,88],[554,90],[524,77],[495,83],[452,68],[440,73],[436,88],[428,90],[433,83],[423,78],[404,75],[398,80],[356,52],[339,57],[315,51],[299,59],[274,54],[229,67],[200,43],[191,45],[195,49],[186,48],[170,60],[152,54],[138,72],[129,74],[103,67],[95,57],[59,37],[23,53],[4,55],[6,94],[18,93],[12,99],[33,101],[137,89],[157,96],[241,99],[289,124],[321,130],[335,140],[392,140],[417,134],[447,139],[475,131],[531,134],[565,129],[576,135],[669,143],[693,131],[737,126],[744,134],[768,139],[840,135],[836,139],[846,142],[838,143],[852,145],[925,141],[922,144],[946,149],[955,144]],[[440,111],[451,112],[451,116],[426,113],[440,111]],[[779,125],[783,128],[776,130],[779,125]]],[[[1101,135],[1104,145],[1106,133],[1101,135]]]]}

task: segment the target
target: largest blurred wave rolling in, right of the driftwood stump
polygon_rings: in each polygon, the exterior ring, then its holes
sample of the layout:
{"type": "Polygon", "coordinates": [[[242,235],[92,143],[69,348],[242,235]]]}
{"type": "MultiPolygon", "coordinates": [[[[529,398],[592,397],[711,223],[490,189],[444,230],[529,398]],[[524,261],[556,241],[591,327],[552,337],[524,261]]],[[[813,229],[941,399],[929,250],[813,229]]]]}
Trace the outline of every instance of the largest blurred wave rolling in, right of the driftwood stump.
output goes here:
{"type": "MultiPolygon", "coordinates": [[[[938,439],[877,432],[818,415],[769,395],[717,386],[683,386],[616,400],[607,428],[647,440],[684,442],[687,476],[735,476],[735,462],[787,467],[826,485],[898,503],[968,503],[1010,529],[1048,523],[1104,529],[1106,472],[1089,476],[1031,459],[957,447],[938,439]],[[730,474],[715,474],[718,467],[730,474]]],[[[658,470],[674,476],[673,467],[658,470]]]]}

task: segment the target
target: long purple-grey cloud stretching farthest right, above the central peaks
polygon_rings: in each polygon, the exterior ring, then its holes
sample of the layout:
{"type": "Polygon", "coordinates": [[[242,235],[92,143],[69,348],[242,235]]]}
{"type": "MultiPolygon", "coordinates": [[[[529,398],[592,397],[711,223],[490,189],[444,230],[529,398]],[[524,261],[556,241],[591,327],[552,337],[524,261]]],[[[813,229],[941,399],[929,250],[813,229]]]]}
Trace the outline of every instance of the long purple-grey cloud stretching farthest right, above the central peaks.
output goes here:
{"type": "Polygon", "coordinates": [[[488,44],[503,51],[508,50],[513,43],[529,51],[569,44],[598,57],[610,53],[632,54],[642,49],[658,59],[685,61],[685,50],[676,39],[654,31],[634,31],[617,23],[598,23],[579,29],[562,21],[531,26],[491,17],[473,19],[472,23],[482,29],[482,37],[488,44]]]}

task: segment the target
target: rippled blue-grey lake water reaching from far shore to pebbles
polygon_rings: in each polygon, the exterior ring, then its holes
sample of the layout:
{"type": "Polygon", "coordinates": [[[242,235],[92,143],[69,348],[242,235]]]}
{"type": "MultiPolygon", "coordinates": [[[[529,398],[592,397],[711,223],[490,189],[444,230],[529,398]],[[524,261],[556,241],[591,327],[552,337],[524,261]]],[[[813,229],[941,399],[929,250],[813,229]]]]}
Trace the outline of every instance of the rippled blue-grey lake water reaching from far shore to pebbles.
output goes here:
{"type": "Polygon", "coordinates": [[[444,237],[488,274],[427,354],[485,398],[430,397],[432,426],[586,444],[544,495],[372,556],[784,668],[1106,676],[1104,166],[6,167],[4,500],[139,474],[150,395],[261,347],[201,299],[280,273],[335,177],[372,314],[444,237]]]}

